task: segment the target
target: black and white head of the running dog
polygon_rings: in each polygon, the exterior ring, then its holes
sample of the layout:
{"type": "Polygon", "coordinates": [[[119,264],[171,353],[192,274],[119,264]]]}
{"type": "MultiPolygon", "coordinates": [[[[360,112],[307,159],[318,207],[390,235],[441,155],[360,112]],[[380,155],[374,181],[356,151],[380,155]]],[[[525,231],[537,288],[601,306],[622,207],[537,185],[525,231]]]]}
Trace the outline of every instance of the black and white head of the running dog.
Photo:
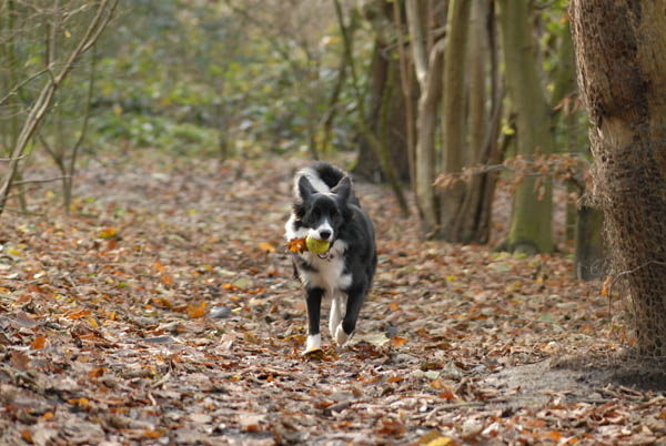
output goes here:
{"type": "Polygon", "coordinates": [[[331,192],[317,191],[310,180],[301,176],[299,195],[301,202],[294,206],[296,219],[309,235],[316,240],[335,242],[345,221],[353,215],[349,209],[352,193],[352,180],[344,176],[331,192]]]}

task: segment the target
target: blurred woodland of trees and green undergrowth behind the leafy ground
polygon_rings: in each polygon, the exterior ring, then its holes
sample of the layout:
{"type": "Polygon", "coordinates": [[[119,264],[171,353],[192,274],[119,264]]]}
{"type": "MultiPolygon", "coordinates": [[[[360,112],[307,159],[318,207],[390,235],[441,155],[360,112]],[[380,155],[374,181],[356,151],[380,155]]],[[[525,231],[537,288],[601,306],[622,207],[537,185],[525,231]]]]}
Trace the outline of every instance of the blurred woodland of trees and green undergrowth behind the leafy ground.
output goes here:
{"type": "MultiPolygon", "coordinates": [[[[4,160],[16,158],[21,125],[51,79],[46,67],[63,69],[99,8],[111,12],[113,3],[0,0],[4,160]]],[[[559,230],[566,240],[574,229],[583,234],[578,270],[594,276],[603,271],[601,239],[584,234],[598,234],[601,220],[575,204],[587,187],[587,116],[566,6],[120,1],[112,17],[102,16],[105,32],[58,84],[20,160],[0,162],[2,176],[11,163],[20,175],[34,154],[50,154],[69,209],[79,153],[344,153],[356,175],[391,182],[405,211],[404,196],[413,195],[424,237],[491,241],[500,184],[513,211],[498,247],[526,254],[555,250],[553,189],[568,187],[559,230]]],[[[9,196],[27,210],[21,181],[13,178],[9,196]]]]}

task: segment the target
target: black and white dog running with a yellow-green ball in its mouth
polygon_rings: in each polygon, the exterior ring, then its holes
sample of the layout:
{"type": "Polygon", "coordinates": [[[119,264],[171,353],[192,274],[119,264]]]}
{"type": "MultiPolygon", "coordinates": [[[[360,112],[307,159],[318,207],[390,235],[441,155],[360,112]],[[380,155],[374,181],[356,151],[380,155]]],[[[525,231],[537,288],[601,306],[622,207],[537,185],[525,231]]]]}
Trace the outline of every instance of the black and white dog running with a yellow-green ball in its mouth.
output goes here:
{"type": "Polygon", "coordinates": [[[293,212],[284,229],[287,242],[307,235],[331,242],[323,254],[292,254],[294,274],[303,283],[307,303],[305,352],[321,348],[320,310],[324,296],[332,301],[331,336],[337,345],[344,345],[356,327],[377,265],[374,227],[361,210],[350,176],[322,162],[300,170],[294,178],[293,212]]]}

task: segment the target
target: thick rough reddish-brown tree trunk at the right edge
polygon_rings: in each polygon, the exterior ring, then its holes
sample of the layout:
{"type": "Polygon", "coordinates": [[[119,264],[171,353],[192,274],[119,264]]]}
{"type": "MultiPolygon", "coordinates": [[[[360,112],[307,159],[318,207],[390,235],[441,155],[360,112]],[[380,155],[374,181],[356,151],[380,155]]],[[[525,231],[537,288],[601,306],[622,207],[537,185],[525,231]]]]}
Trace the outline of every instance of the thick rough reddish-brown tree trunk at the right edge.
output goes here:
{"type": "Polygon", "coordinates": [[[666,356],[666,14],[662,0],[573,0],[594,197],[640,354],[666,356]]]}

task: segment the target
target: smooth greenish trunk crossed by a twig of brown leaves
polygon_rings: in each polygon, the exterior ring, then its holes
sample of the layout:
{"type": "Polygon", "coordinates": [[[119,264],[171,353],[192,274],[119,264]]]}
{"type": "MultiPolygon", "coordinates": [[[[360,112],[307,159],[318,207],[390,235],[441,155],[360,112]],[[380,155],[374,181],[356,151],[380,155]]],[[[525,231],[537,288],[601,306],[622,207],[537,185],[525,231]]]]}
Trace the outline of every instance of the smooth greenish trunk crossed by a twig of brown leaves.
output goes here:
{"type": "MultiPolygon", "coordinates": [[[[517,153],[526,160],[553,151],[554,135],[548,104],[536,65],[535,44],[526,1],[498,1],[500,27],[508,94],[517,111],[517,153]]],[[[552,252],[553,186],[549,178],[525,178],[516,189],[511,229],[511,251],[552,252]]]]}

